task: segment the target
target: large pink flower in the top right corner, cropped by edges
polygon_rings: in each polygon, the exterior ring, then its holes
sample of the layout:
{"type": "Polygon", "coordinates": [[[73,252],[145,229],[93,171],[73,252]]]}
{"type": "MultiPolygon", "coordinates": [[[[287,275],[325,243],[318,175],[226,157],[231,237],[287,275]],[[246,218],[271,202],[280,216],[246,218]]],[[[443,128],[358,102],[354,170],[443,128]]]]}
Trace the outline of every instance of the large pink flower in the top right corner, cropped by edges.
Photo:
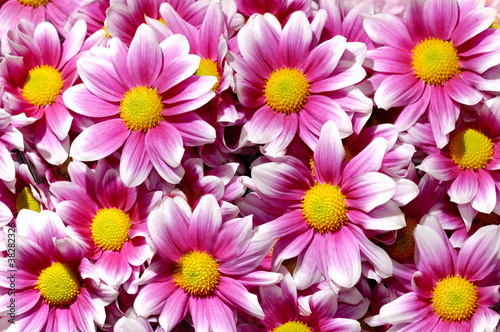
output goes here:
{"type": "Polygon", "coordinates": [[[405,21],[389,14],[365,18],[367,34],[382,45],[367,54],[381,82],[374,101],[384,109],[403,107],[395,121],[400,130],[427,114],[443,147],[460,104],[500,91],[488,71],[500,63],[500,31],[488,29],[495,14],[475,0],[419,0],[409,2],[405,21]]]}

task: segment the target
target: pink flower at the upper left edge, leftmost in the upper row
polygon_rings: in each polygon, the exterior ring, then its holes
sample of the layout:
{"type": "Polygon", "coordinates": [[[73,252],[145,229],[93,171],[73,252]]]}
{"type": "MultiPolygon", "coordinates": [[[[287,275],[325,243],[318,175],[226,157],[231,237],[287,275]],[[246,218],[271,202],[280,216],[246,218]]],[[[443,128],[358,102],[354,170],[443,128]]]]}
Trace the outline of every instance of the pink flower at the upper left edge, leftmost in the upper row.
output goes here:
{"type": "Polygon", "coordinates": [[[13,118],[25,114],[34,122],[26,134],[33,135],[37,150],[53,165],[68,158],[73,116],[62,93],[77,77],[76,60],[81,56],[85,32],[85,22],[78,21],[61,43],[52,24],[44,22],[34,28],[21,20],[17,32],[9,33],[12,55],[0,63],[5,110],[13,118]]]}

